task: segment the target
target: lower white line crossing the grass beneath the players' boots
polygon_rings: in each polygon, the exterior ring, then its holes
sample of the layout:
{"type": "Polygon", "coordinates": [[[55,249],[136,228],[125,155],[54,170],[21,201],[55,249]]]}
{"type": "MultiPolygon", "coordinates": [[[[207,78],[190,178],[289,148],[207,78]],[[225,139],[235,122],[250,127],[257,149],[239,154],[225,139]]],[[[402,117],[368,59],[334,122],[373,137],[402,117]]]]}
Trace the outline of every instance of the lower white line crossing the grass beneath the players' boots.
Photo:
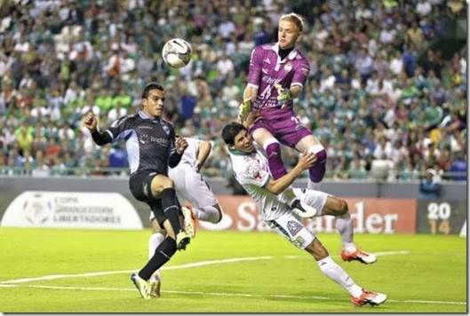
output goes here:
{"type": "MultiPolygon", "coordinates": [[[[84,287],[59,287],[59,286],[48,286],[48,285],[17,285],[17,284],[0,284],[0,288],[48,288],[48,289],[73,289],[73,290],[86,290],[86,291],[125,291],[134,292],[134,288],[84,288],[84,287]]],[[[273,298],[299,298],[299,299],[311,299],[311,300],[338,300],[338,297],[324,297],[324,296],[288,296],[288,295],[266,295],[260,296],[256,294],[246,293],[223,293],[223,292],[200,292],[200,291],[179,291],[165,289],[163,293],[173,294],[187,294],[187,295],[201,295],[201,296],[243,296],[243,297],[273,297],[273,298]]],[[[446,302],[446,301],[422,301],[422,300],[387,300],[387,302],[394,303],[414,303],[414,304],[450,304],[450,305],[465,305],[466,302],[446,302]]]]}

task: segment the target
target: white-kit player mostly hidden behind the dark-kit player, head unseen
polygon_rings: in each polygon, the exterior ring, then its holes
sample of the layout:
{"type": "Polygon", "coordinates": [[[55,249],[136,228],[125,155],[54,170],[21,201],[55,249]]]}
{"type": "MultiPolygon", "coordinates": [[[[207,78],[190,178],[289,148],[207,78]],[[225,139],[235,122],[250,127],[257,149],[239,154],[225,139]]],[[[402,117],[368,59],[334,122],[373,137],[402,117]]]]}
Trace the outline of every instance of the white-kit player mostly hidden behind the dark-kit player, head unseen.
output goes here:
{"type": "MultiPolygon", "coordinates": [[[[181,210],[185,217],[185,229],[191,238],[194,238],[195,219],[217,224],[222,219],[223,212],[211,187],[199,173],[211,153],[211,142],[197,138],[185,139],[187,141],[187,148],[179,164],[175,168],[168,170],[168,177],[174,182],[178,201],[180,203],[190,201],[193,205],[192,209],[183,206],[181,210]]],[[[152,223],[152,234],[148,241],[148,257],[154,256],[155,249],[164,240],[166,234],[156,222],[152,212],[150,212],[150,222],[152,223]]],[[[150,279],[151,296],[160,296],[161,280],[162,276],[158,270],[150,279]]]]}

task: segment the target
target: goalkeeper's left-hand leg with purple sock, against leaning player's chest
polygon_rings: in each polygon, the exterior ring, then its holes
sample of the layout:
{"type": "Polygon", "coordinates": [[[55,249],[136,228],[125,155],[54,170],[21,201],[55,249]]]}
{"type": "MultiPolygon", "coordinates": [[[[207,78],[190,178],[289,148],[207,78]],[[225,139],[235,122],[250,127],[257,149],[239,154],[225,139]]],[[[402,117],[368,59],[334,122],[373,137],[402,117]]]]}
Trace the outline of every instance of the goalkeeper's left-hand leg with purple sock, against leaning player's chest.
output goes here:
{"type": "Polygon", "coordinates": [[[259,128],[253,131],[253,139],[264,148],[267,156],[267,164],[273,178],[281,178],[287,174],[283,158],[281,157],[281,144],[273,134],[265,129],[259,128]]]}

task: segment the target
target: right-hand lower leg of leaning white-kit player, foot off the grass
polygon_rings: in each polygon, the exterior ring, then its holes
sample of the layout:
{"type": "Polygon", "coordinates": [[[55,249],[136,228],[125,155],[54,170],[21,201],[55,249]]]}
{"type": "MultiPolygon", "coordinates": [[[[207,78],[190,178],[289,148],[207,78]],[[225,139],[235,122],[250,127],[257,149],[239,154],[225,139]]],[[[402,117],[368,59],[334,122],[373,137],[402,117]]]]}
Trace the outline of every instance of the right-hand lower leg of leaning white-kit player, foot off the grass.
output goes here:
{"type": "Polygon", "coordinates": [[[324,204],[322,215],[332,215],[336,217],[336,229],[343,242],[341,257],[345,261],[357,260],[362,264],[373,264],[377,257],[359,249],[354,243],[354,223],[353,217],[349,213],[347,201],[336,196],[329,195],[324,204]]]}

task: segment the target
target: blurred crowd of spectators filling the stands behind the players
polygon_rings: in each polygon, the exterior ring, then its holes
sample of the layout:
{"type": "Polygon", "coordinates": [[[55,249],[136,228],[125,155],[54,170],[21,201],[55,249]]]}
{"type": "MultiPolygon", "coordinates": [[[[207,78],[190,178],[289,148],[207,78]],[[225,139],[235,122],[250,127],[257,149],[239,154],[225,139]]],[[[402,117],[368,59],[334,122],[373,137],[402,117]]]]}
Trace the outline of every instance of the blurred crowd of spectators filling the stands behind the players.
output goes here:
{"type": "Polygon", "coordinates": [[[125,167],[123,144],[94,146],[82,115],[105,130],[157,81],[176,130],[211,140],[203,172],[227,177],[219,132],[235,120],[251,49],[276,41],[285,12],[307,20],[311,72],[295,107],[328,148],[326,178],[367,178],[375,160],[394,179],[466,170],[467,48],[433,45],[466,16],[464,0],[15,0],[0,7],[1,172],[125,167]],[[192,43],[188,67],[163,63],[172,37],[192,43]]]}

